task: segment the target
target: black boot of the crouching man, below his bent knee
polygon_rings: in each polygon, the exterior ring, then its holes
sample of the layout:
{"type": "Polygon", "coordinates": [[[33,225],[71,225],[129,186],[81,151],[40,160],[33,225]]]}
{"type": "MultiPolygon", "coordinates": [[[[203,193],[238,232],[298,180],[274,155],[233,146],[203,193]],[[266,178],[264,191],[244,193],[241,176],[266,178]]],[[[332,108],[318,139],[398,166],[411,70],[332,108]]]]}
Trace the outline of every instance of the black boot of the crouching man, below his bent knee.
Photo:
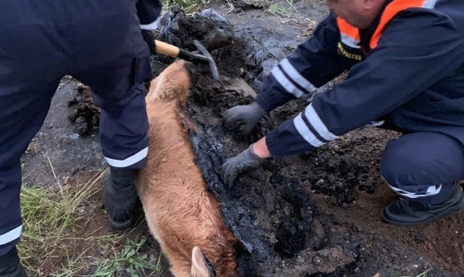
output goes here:
{"type": "Polygon", "coordinates": [[[393,225],[412,226],[438,220],[464,208],[464,193],[461,185],[455,184],[449,198],[440,204],[420,204],[412,199],[400,199],[387,205],[382,219],[393,225]]]}

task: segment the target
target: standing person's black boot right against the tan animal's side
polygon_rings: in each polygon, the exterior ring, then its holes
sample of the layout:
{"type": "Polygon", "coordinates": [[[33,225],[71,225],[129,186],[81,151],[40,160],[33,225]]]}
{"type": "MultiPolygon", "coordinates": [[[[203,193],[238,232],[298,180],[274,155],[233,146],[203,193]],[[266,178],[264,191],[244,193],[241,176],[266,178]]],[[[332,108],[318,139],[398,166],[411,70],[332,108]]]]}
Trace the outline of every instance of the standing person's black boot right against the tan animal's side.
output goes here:
{"type": "Polygon", "coordinates": [[[113,231],[125,231],[134,224],[137,199],[135,178],[137,170],[109,167],[105,178],[105,207],[113,231]]]}

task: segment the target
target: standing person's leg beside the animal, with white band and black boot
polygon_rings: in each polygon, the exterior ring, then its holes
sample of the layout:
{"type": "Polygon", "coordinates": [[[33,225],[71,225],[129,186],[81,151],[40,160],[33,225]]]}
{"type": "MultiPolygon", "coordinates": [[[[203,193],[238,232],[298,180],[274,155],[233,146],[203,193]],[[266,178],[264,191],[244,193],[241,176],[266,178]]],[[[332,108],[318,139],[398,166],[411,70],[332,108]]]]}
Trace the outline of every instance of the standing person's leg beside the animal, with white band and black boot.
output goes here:
{"type": "Polygon", "coordinates": [[[88,84],[101,108],[100,144],[109,164],[105,207],[115,231],[132,226],[136,171],[148,153],[144,80],[150,78],[148,46],[134,9],[71,26],[79,43],[76,78],[88,84]]]}

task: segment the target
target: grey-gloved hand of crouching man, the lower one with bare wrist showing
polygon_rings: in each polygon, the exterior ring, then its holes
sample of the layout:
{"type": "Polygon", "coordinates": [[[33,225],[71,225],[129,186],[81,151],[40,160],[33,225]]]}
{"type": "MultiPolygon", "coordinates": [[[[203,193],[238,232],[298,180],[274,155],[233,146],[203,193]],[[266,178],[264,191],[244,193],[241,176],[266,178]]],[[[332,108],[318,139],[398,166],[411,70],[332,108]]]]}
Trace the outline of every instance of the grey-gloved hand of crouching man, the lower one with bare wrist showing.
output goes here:
{"type": "Polygon", "coordinates": [[[252,144],[247,150],[226,160],[222,165],[222,180],[224,180],[224,183],[232,186],[233,181],[235,181],[239,173],[257,168],[265,160],[256,156],[252,144]]]}

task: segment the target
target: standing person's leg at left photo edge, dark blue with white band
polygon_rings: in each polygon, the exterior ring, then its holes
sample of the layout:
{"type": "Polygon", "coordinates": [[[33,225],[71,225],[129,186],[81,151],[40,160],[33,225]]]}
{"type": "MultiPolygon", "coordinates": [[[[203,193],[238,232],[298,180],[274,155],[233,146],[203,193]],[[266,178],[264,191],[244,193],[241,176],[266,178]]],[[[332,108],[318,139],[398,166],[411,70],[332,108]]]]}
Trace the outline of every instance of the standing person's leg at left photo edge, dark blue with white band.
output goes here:
{"type": "Polygon", "coordinates": [[[25,276],[15,247],[22,231],[20,158],[44,122],[64,58],[53,52],[50,26],[0,24],[0,33],[0,276],[25,276]]]}

